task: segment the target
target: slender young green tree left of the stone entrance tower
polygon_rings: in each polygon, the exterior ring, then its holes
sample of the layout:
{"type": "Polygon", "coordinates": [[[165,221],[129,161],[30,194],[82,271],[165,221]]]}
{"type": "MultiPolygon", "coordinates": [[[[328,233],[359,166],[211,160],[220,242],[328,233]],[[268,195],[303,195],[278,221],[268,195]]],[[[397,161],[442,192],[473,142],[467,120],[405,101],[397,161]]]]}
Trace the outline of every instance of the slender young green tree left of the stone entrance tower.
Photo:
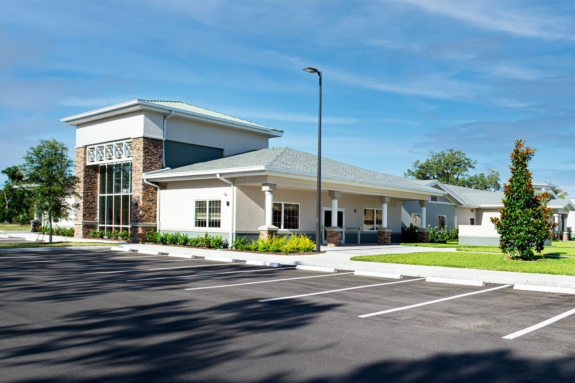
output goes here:
{"type": "Polygon", "coordinates": [[[72,173],[74,162],[68,157],[66,144],[53,138],[40,139],[40,145],[26,152],[24,161],[25,183],[32,191],[30,202],[37,212],[47,217],[49,243],[52,243],[52,220],[67,217],[72,210],[66,198],[75,195],[75,191],[70,192],[78,180],[72,173]]]}

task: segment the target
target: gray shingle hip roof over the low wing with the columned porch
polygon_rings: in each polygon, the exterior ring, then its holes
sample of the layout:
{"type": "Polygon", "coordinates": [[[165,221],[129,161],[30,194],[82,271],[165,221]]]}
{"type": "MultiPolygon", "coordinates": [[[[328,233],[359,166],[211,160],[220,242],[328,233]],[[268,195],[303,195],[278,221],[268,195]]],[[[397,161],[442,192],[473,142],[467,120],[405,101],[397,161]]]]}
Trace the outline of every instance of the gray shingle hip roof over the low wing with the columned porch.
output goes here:
{"type": "MultiPolygon", "coordinates": [[[[206,162],[194,163],[155,174],[168,175],[187,171],[208,171],[251,166],[273,166],[315,173],[317,171],[317,156],[288,147],[262,149],[206,162]]],[[[419,179],[377,173],[377,171],[367,170],[323,157],[321,158],[321,173],[324,175],[334,175],[336,177],[363,179],[365,181],[390,183],[398,186],[419,187],[420,189],[438,191],[432,187],[425,186],[425,183],[419,179]]],[[[427,183],[428,182],[429,181],[427,181],[427,183]]]]}

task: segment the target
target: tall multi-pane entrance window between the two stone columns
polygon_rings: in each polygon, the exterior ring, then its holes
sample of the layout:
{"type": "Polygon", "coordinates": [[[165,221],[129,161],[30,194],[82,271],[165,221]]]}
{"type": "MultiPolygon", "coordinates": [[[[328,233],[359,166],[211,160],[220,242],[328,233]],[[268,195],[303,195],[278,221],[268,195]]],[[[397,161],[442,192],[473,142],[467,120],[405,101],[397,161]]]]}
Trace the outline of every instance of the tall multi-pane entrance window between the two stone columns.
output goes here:
{"type": "Polygon", "coordinates": [[[129,230],[132,163],[100,165],[98,178],[98,229],[129,230]]]}

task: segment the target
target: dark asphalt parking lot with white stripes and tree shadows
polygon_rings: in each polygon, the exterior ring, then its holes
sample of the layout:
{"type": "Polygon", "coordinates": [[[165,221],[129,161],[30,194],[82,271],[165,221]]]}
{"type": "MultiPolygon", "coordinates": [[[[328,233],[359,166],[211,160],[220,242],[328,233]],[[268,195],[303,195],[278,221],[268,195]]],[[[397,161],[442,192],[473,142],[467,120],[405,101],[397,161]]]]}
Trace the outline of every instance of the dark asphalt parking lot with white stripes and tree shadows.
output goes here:
{"type": "Polygon", "coordinates": [[[0,267],[5,382],[575,381],[575,315],[532,328],[568,294],[110,250],[0,267]]]}

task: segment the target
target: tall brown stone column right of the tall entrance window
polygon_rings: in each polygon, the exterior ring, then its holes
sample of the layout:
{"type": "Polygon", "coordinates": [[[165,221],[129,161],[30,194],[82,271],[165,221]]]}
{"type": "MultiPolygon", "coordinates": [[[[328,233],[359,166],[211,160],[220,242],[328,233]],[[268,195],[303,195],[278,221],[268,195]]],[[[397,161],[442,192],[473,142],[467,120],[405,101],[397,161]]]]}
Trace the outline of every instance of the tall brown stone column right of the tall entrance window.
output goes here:
{"type": "Polygon", "coordinates": [[[142,174],[160,170],[162,140],[139,137],[132,140],[132,242],[145,242],[146,234],[158,229],[156,221],[158,189],[142,181],[142,174]]]}

